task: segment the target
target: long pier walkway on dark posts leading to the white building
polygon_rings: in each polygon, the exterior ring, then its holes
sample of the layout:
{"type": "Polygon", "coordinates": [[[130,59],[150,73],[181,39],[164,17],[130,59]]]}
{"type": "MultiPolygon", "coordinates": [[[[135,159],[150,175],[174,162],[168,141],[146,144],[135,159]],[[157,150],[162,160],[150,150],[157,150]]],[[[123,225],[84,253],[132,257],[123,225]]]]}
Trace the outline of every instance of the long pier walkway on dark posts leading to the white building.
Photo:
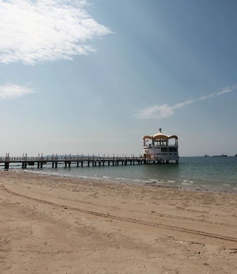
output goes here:
{"type": "MultiPolygon", "coordinates": [[[[83,167],[83,166],[118,166],[118,165],[148,165],[148,164],[163,164],[164,161],[160,161],[158,157],[155,159],[144,159],[141,156],[135,157],[108,157],[107,156],[64,156],[64,157],[58,157],[51,156],[51,157],[27,157],[27,154],[22,157],[9,157],[9,154],[7,154],[5,157],[0,157],[0,166],[4,167],[5,170],[8,170],[10,167],[16,167],[21,166],[22,169],[26,169],[27,166],[34,167],[37,166],[37,168],[42,169],[43,165],[49,164],[52,166],[52,168],[57,168],[58,165],[64,165],[65,168],[69,167],[71,168],[72,164],[76,164],[76,167],[83,167]],[[17,165],[18,164],[18,165],[17,165]]],[[[166,164],[169,163],[169,161],[165,161],[166,164]]]]}

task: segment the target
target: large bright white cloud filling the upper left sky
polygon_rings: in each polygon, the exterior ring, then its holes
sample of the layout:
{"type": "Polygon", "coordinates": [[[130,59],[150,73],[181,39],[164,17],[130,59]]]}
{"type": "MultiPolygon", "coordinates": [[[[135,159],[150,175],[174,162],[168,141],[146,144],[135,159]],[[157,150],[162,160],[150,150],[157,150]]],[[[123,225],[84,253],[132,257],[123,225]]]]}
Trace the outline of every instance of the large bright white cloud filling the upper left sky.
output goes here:
{"type": "Polygon", "coordinates": [[[112,33],[92,19],[86,0],[0,0],[0,63],[72,60],[112,33]]]}

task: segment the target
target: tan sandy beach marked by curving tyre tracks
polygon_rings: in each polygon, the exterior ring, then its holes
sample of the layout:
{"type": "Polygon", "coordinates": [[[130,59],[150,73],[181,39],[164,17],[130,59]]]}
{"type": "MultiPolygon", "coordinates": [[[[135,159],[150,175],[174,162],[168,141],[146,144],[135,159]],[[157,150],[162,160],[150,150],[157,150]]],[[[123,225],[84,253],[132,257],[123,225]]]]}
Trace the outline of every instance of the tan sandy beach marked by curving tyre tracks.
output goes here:
{"type": "Polygon", "coordinates": [[[237,273],[237,195],[0,171],[1,274],[237,273]]]}

